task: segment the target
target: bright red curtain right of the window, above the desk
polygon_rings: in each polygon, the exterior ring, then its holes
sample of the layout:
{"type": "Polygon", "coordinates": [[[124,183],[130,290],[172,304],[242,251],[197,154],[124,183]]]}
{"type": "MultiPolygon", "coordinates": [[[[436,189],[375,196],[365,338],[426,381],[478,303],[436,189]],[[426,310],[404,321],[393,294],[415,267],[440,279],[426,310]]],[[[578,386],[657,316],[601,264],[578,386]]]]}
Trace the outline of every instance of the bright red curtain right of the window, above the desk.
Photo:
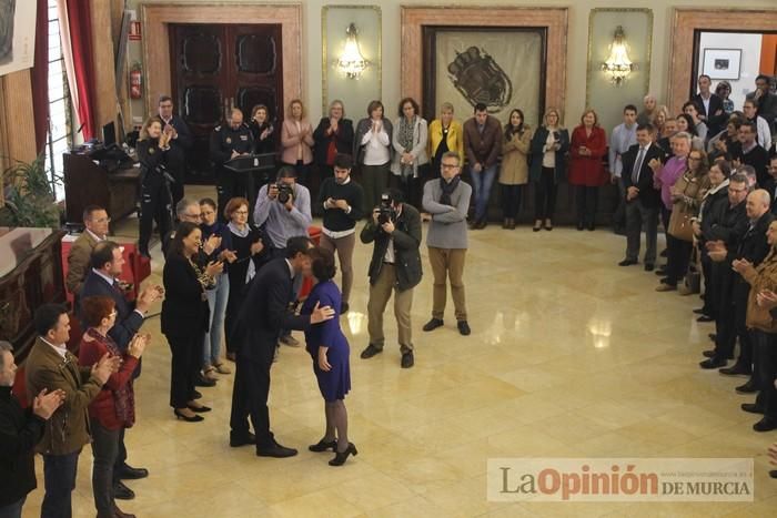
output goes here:
{"type": "Polygon", "coordinates": [[[94,136],[94,119],[92,116],[94,65],[92,63],[92,22],[89,18],[90,3],[90,0],[67,0],[70,44],[73,51],[73,68],[75,69],[74,93],[79,100],[78,116],[83,124],[84,141],[94,136]]]}

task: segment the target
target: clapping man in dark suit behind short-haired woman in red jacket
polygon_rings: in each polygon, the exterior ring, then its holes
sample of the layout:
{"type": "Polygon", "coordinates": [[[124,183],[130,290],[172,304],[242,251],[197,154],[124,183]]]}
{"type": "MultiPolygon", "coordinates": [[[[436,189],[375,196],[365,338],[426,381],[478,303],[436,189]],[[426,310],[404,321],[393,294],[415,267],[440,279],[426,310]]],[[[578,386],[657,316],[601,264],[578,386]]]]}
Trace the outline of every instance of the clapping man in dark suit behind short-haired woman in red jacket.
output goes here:
{"type": "MultiPolygon", "coordinates": [[[[91,271],[83,282],[81,290],[81,301],[90,296],[109,296],[115,303],[115,324],[108,332],[119,348],[124,352],[130,345],[130,341],[143,325],[145,314],[151,304],[160,298],[164,291],[160,286],[149,286],[138,296],[137,302],[128,302],[124,297],[124,290],[119,282],[124,257],[121,246],[112,241],[101,241],[94,246],[90,258],[91,271]]],[[[84,329],[87,326],[82,326],[84,329]]],[[[134,377],[140,375],[140,365],[134,373],[134,377]]],[[[114,497],[123,500],[134,498],[134,492],[124,486],[122,479],[138,479],[149,476],[149,470],[144,468],[133,468],[127,464],[127,447],[124,446],[124,430],[119,436],[119,454],[113,466],[113,492],[114,497]]]]}

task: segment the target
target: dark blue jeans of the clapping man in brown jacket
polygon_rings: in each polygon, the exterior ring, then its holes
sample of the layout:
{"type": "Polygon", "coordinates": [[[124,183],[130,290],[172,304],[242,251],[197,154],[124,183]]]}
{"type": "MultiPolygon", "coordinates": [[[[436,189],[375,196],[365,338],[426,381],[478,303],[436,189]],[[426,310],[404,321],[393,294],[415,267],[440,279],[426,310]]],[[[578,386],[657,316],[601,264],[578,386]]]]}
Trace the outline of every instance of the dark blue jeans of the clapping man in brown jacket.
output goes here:
{"type": "Polygon", "coordinates": [[[70,518],[70,497],[75,489],[78,457],[81,450],[67,455],[43,455],[46,495],[40,509],[41,518],[70,518]]]}

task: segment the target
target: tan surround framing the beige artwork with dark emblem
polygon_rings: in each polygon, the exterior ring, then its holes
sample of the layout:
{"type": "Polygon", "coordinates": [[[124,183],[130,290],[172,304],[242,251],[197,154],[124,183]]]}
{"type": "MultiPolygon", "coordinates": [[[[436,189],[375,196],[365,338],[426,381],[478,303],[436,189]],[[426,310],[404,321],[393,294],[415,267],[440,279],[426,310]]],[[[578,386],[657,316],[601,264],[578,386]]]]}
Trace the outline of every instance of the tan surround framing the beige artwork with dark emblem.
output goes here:
{"type": "Polygon", "coordinates": [[[402,97],[423,98],[423,26],[545,27],[547,61],[545,105],[564,112],[566,87],[566,8],[402,7],[402,97]]]}

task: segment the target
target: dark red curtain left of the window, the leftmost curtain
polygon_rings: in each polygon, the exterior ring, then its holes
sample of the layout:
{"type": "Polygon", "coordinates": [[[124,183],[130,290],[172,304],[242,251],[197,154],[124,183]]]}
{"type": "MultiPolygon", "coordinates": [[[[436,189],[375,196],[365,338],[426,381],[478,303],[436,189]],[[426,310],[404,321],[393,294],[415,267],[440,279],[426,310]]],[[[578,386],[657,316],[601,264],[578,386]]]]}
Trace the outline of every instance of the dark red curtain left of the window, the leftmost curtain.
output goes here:
{"type": "Polygon", "coordinates": [[[49,2],[38,0],[36,19],[36,55],[32,67],[32,119],[36,125],[36,150],[43,152],[49,132],[49,2]]]}

